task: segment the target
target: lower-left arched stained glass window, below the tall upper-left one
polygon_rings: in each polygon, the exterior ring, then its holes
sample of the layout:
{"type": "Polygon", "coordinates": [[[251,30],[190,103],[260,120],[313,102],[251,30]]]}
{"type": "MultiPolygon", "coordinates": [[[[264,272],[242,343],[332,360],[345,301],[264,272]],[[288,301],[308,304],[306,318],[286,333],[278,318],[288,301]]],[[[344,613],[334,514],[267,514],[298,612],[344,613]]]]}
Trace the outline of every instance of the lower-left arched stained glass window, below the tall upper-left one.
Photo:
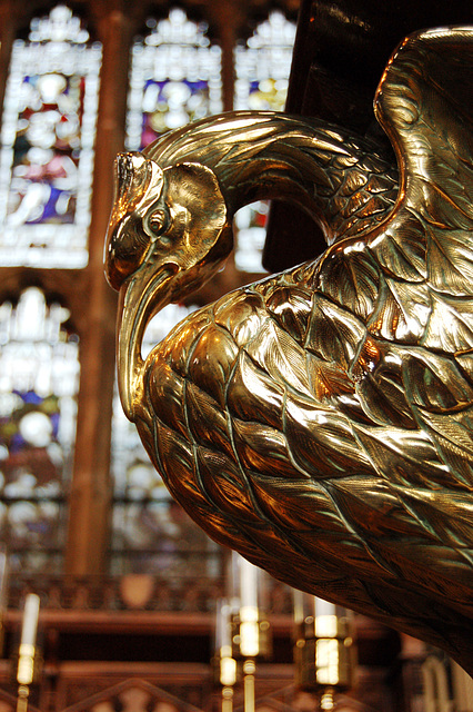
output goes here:
{"type": "Polygon", "coordinates": [[[0,305],[0,538],[13,572],[61,567],[79,385],[68,318],[36,287],[0,305]]]}

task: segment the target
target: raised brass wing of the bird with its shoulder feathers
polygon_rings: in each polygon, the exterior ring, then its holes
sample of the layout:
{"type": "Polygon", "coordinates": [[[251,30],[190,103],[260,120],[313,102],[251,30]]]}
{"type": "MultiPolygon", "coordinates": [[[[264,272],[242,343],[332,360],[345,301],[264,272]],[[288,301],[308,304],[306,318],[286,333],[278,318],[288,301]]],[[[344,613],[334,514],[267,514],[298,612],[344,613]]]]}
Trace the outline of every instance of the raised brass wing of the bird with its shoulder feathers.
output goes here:
{"type": "MultiPolygon", "coordinates": [[[[393,56],[376,110],[396,149],[400,199],[381,228],[363,240],[344,240],[328,250],[314,286],[368,326],[370,337],[349,366],[355,377],[362,374],[356,393],[363,411],[372,422],[382,425],[384,418],[388,425],[391,419],[395,426],[401,406],[402,426],[419,427],[445,469],[440,478],[439,472],[432,473],[432,483],[445,487],[462,483],[471,493],[473,82],[465,68],[473,65],[473,43],[464,41],[469,36],[471,30],[462,29],[424,32],[407,39],[393,56]],[[404,403],[392,388],[386,390],[386,376],[403,390],[404,403]]],[[[336,319],[330,320],[333,330],[336,319]]],[[[346,329],[343,339],[346,352],[352,343],[346,329]]],[[[332,348],[338,363],[346,360],[315,328],[313,345],[318,340],[324,343],[325,357],[332,348]]],[[[384,468],[390,472],[388,462],[384,468]]]]}

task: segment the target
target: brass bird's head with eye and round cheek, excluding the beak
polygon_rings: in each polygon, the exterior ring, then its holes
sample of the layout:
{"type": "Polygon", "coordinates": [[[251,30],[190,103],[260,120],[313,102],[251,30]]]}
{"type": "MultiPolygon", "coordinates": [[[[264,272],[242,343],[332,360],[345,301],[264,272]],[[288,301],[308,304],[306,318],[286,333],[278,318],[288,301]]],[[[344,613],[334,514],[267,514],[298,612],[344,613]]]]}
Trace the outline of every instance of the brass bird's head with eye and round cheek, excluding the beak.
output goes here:
{"type": "MultiPolygon", "coordinates": [[[[171,274],[179,283],[203,283],[232,248],[228,210],[207,166],[182,162],[162,169],[140,152],[115,159],[115,197],[105,244],[105,275],[120,290],[171,274]],[[178,277],[179,276],[179,277],[178,277]]],[[[200,285],[199,285],[200,286],[200,285]]]]}

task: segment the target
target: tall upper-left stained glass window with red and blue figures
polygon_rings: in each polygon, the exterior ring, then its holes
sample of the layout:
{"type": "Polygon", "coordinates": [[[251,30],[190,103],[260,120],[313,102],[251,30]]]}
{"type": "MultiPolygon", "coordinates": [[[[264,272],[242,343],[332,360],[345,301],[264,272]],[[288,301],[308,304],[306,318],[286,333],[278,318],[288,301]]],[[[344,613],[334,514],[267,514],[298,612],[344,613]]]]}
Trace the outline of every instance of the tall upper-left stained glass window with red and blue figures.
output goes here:
{"type": "Polygon", "coordinates": [[[66,6],[13,43],[0,155],[0,264],[84,267],[101,46],[66,6]]]}

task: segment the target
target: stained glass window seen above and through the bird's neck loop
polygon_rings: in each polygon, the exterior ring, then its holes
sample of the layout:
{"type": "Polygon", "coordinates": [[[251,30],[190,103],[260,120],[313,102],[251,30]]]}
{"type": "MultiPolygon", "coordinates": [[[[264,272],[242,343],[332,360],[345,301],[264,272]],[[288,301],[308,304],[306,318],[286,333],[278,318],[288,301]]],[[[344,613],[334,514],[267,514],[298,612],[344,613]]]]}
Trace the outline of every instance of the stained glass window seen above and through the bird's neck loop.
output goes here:
{"type": "MultiPolygon", "coordinates": [[[[295,24],[273,11],[248,42],[235,48],[235,109],[283,111],[294,39],[295,24]]],[[[269,204],[258,201],[236,214],[236,269],[264,271],[261,258],[268,212],[269,204]]]]}

